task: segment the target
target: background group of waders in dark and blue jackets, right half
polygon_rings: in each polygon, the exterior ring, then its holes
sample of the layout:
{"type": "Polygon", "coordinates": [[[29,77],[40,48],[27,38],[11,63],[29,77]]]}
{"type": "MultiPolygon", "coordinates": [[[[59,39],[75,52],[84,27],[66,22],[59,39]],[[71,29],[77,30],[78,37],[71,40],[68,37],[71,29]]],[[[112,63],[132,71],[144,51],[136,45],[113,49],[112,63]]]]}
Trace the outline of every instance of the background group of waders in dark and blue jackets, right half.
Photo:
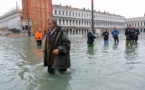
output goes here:
{"type": "MultiPolygon", "coordinates": [[[[128,45],[132,46],[135,43],[137,43],[139,34],[140,34],[139,29],[133,28],[129,24],[128,27],[125,28],[126,46],[128,46],[128,45]]],[[[119,31],[117,30],[116,27],[114,27],[114,29],[111,31],[111,35],[114,39],[114,43],[119,43],[119,37],[118,37],[119,31]]],[[[104,45],[107,45],[109,43],[109,32],[107,29],[104,29],[104,31],[102,33],[102,37],[104,39],[104,45]]],[[[88,46],[93,46],[94,39],[96,37],[91,28],[87,34],[87,38],[88,38],[88,40],[87,40],[88,46]]]]}

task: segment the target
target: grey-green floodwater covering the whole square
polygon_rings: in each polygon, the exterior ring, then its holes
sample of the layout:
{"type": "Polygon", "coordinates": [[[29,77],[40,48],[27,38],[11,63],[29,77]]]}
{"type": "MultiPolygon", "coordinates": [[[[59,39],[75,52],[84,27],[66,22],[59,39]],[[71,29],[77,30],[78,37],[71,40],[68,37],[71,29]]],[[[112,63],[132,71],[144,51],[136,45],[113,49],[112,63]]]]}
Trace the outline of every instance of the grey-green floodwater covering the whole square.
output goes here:
{"type": "MultiPolygon", "coordinates": [[[[51,75],[43,67],[43,47],[34,37],[0,37],[0,90],[145,90],[145,33],[138,44],[125,46],[110,36],[87,47],[85,36],[69,36],[71,68],[51,75]]],[[[44,43],[43,43],[44,45],[44,43]]]]}

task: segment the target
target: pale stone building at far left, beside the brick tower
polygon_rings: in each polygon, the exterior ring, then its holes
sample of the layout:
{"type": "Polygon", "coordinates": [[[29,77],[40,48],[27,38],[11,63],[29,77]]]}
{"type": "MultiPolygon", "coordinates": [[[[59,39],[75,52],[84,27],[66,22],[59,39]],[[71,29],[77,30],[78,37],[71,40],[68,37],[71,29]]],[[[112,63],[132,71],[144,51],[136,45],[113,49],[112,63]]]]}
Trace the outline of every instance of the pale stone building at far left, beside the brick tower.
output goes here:
{"type": "Polygon", "coordinates": [[[0,17],[0,30],[19,30],[21,31],[21,15],[22,11],[20,9],[13,9],[10,12],[4,14],[0,17]]]}

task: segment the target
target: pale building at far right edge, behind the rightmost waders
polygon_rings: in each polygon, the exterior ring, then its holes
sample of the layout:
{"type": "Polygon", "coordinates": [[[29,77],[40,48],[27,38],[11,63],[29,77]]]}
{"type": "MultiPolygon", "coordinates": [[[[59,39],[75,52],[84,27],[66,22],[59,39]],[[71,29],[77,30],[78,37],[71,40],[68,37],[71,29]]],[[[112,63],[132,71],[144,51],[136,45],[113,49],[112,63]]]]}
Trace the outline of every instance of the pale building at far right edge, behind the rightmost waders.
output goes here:
{"type": "Polygon", "coordinates": [[[133,27],[138,27],[139,30],[145,32],[145,16],[144,17],[136,17],[136,18],[128,18],[126,19],[126,27],[128,24],[131,24],[133,27]]]}

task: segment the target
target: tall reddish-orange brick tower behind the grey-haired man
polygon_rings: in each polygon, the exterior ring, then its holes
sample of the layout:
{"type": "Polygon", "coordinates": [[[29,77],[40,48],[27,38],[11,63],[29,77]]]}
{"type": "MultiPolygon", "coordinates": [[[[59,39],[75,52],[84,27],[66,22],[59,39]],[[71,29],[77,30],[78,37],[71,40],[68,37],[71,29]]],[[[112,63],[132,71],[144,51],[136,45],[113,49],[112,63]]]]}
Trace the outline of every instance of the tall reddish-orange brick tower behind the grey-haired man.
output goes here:
{"type": "Polygon", "coordinates": [[[22,15],[31,19],[31,32],[47,29],[47,19],[51,16],[52,0],[22,0],[22,15]]]}

